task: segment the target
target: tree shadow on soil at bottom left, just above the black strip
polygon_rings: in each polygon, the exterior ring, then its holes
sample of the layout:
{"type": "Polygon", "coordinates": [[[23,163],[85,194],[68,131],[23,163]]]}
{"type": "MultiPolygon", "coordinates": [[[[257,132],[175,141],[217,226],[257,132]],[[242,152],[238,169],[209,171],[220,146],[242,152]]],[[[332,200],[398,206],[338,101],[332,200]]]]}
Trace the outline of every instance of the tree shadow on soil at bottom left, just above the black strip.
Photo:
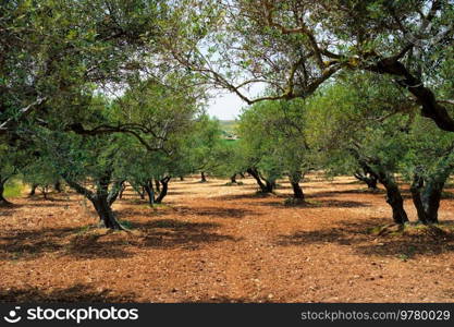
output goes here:
{"type": "Polygon", "coordinates": [[[90,286],[76,283],[70,288],[54,289],[47,292],[41,288],[12,288],[0,290],[1,303],[24,303],[24,302],[89,302],[89,303],[115,303],[133,302],[137,295],[133,292],[125,292],[121,295],[112,294],[112,290],[101,291],[90,286]]]}

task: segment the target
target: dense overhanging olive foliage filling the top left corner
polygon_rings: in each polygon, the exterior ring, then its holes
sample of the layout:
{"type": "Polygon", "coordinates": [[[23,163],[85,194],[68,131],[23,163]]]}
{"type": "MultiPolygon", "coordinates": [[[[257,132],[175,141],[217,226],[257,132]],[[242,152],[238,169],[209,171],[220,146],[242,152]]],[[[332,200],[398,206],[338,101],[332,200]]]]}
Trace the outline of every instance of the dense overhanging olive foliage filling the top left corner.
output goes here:
{"type": "MultiPolygon", "coordinates": [[[[3,1],[4,2],[4,1],[3,1]]],[[[0,17],[0,122],[77,116],[86,93],[127,81],[154,48],[161,1],[7,1],[0,17]],[[47,110],[42,110],[44,105],[47,110]],[[29,116],[27,108],[36,111],[29,116]],[[35,104],[35,105],[33,105],[35,104]],[[39,109],[39,110],[38,110],[39,109]]],[[[10,130],[12,123],[5,125],[10,130]]]]}

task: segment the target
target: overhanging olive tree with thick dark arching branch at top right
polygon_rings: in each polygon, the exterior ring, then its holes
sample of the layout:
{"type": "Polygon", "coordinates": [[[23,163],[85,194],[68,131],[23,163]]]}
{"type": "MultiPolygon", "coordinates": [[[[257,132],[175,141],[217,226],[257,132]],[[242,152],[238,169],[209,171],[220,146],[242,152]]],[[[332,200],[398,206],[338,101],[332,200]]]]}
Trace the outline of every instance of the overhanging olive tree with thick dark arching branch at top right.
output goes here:
{"type": "Polygon", "coordinates": [[[173,15],[171,57],[249,105],[307,98],[340,73],[371,72],[454,131],[443,88],[453,81],[451,0],[213,0],[173,15]],[[248,93],[262,84],[273,92],[248,93]]]}

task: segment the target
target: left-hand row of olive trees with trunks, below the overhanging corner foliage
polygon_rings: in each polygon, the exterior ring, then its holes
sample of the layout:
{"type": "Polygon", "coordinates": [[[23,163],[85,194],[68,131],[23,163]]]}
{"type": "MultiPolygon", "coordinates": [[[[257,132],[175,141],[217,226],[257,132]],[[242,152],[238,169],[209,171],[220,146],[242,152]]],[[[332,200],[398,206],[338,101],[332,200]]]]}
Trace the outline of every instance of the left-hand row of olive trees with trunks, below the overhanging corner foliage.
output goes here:
{"type": "Polygon", "coordinates": [[[82,133],[58,121],[21,125],[1,148],[1,204],[9,204],[3,191],[14,177],[30,185],[30,195],[38,186],[45,196],[50,185],[61,192],[64,182],[93,203],[103,226],[122,229],[111,206],[126,183],[154,205],[171,178],[213,167],[207,154],[219,145],[219,122],[188,94],[145,81],[115,100],[93,95],[84,116],[89,130],[82,133]]]}

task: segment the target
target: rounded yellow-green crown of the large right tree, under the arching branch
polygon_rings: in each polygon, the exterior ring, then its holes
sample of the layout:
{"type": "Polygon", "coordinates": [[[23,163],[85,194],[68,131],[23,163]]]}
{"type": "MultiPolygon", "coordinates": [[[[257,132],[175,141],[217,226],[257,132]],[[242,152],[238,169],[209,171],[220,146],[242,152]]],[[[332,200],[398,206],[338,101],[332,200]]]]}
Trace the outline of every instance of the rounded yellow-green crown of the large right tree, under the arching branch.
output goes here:
{"type": "Polygon", "coordinates": [[[355,172],[358,152],[396,171],[416,108],[386,78],[348,76],[321,89],[307,106],[308,142],[320,149],[318,159],[329,174],[355,172]]]}

